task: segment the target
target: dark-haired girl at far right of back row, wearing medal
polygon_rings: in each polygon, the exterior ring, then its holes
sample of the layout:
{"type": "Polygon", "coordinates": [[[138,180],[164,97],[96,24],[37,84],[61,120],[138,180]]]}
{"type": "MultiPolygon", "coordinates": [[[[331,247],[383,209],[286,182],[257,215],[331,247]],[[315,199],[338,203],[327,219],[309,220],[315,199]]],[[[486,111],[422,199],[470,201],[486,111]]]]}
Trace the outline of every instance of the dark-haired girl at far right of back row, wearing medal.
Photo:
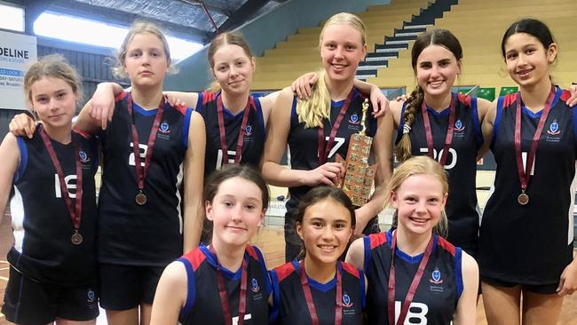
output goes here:
{"type": "Polygon", "coordinates": [[[577,289],[577,110],[566,104],[569,91],[551,81],[557,44],[541,21],[513,23],[502,38],[502,56],[519,92],[499,98],[483,124],[497,163],[480,228],[486,318],[489,324],[555,324],[563,296],[577,289]]]}

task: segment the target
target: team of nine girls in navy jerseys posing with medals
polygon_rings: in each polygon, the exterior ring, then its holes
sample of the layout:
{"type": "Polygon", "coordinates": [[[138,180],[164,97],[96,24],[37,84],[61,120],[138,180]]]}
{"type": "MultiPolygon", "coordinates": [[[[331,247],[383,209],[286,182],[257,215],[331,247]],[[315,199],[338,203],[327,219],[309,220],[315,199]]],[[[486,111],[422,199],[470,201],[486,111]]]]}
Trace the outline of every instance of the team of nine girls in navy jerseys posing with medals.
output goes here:
{"type": "Polygon", "coordinates": [[[464,58],[446,29],[416,38],[415,90],[385,99],[355,79],[366,34],[354,14],[330,17],[320,70],[256,97],[256,60],[235,32],[209,44],[209,90],[163,91],[170,48],[137,21],[114,67],[130,90],[100,83],[77,116],[75,68],[38,59],[29,114],[0,146],[6,320],[96,324],[100,306],[111,325],[475,325],[482,297],[489,325],[556,324],[577,290],[577,94],[550,76],[551,31],[534,19],[503,31],[518,92],[494,102],[452,92],[464,58]],[[286,264],[271,270],[250,244],[267,185],[288,187],[286,264]],[[393,226],[381,230],[384,208],[393,226]]]}

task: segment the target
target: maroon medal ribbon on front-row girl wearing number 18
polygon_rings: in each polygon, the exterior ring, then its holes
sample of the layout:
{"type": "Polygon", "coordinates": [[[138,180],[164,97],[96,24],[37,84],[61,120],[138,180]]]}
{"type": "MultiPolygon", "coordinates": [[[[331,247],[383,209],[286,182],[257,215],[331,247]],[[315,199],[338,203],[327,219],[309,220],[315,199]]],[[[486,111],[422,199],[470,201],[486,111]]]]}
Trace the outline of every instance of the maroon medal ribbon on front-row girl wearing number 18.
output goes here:
{"type": "Polygon", "coordinates": [[[403,305],[401,305],[399,319],[395,322],[395,255],[396,255],[396,248],[397,248],[397,231],[392,233],[392,242],[391,242],[391,271],[389,273],[389,299],[387,302],[388,306],[388,316],[389,316],[389,324],[391,325],[401,325],[405,323],[405,319],[407,318],[408,309],[411,306],[411,302],[413,301],[413,297],[415,297],[416,288],[419,286],[419,282],[423,278],[424,269],[427,266],[427,262],[429,262],[429,258],[431,257],[432,251],[432,243],[433,237],[431,236],[431,240],[427,244],[427,248],[424,250],[423,258],[421,259],[421,263],[419,263],[419,268],[416,270],[415,277],[413,281],[411,281],[411,286],[408,288],[407,297],[405,297],[405,301],[403,305]]]}

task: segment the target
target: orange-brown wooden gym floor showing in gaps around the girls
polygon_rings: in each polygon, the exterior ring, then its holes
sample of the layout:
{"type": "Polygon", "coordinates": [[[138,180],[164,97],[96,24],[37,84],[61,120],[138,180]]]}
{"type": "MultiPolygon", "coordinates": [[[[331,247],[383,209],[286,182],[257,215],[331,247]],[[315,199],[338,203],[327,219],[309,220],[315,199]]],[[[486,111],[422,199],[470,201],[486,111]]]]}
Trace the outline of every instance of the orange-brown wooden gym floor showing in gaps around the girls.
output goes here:
{"type": "MultiPolygon", "coordinates": [[[[8,281],[8,263],[5,262],[5,255],[12,246],[12,228],[10,216],[4,216],[0,224],[0,305],[4,303],[4,288],[8,281]]],[[[265,259],[269,267],[280,266],[284,262],[284,240],[282,229],[264,228],[258,235],[254,243],[263,250],[265,259]]],[[[99,317],[99,324],[105,324],[104,314],[99,317]]],[[[0,314],[0,325],[11,324],[0,314]]],[[[483,301],[479,302],[477,313],[477,325],[485,325],[485,313],[483,311],[483,301]]],[[[573,296],[565,297],[561,319],[559,325],[577,325],[577,293],[573,296]]],[[[545,325],[545,324],[543,324],[545,325]]]]}

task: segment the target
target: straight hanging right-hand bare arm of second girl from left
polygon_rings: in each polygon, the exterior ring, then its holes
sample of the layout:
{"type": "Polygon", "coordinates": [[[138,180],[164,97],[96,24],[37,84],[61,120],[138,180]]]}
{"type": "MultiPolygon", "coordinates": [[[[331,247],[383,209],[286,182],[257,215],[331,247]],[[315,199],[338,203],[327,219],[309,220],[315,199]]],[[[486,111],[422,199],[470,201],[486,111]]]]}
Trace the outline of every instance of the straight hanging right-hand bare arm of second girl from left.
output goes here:
{"type": "Polygon", "coordinates": [[[204,184],[204,153],[206,131],[202,116],[193,112],[188,128],[188,148],[185,156],[185,206],[183,253],[194,250],[201,242],[204,210],[202,185],[204,184]]]}

